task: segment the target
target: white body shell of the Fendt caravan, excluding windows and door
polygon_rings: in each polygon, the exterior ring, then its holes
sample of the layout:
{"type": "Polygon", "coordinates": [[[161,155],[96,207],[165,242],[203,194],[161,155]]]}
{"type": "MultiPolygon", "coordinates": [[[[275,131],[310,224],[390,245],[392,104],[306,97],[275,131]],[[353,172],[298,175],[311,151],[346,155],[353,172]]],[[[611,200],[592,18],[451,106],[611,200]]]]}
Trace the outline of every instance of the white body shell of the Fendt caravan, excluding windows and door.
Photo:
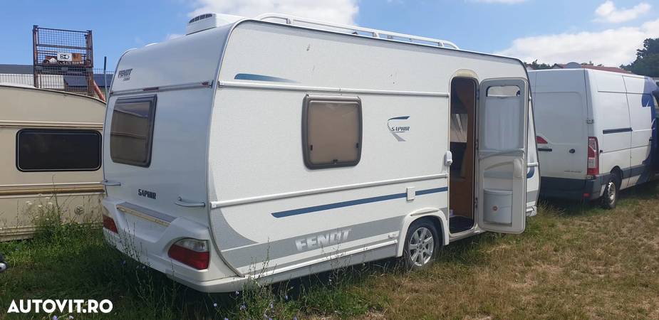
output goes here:
{"type": "MultiPolygon", "coordinates": [[[[118,66],[126,69],[130,80],[115,79],[121,87],[105,125],[122,99],[155,95],[152,153],[148,166],[117,163],[105,143],[104,204],[120,230],[105,235],[123,251],[132,237],[146,248],[138,260],[202,291],[400,256],[420,217],[435,221],[448,244],[451,80],[458,70],[477,82],[526,79],[510,58],[251,20],[129,51],[118,66]],[[187,62],[191,51],[203,52],[195,60],[203,68],[187,62]],[[212,85],[208,70],[217,71],[212,85]],[[185,85],[160,80],[178,73],[185,85]],[[305,163],[301,119],[313,99],[358,102],[356,165],[305,163]],[[212,244],[207,270],[168,262],[167,248],[182,238],[212,244]]],[[[520,159],[531,161],[535,149],[524,145],[520,159]]],[[[539,176],[521,164],[529,180],[539,176]]],[[[522,192],[519,212],[534,212],[536,190],[522,192]]],[[[482,231],[474,225],[465,235],[482,231]]]]}

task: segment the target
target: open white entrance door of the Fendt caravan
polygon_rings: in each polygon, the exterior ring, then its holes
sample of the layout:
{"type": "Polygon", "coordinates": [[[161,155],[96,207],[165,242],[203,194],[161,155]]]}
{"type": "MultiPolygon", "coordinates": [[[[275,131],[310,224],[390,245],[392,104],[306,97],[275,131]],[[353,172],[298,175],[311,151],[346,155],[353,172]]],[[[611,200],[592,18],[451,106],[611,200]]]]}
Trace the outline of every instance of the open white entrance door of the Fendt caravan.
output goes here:
{"type": "Polygon", "coordinates": [[[526,119],[522,78],[484,80],[479,89],[477,223],[499,233],[526,226],[526,119]]]}

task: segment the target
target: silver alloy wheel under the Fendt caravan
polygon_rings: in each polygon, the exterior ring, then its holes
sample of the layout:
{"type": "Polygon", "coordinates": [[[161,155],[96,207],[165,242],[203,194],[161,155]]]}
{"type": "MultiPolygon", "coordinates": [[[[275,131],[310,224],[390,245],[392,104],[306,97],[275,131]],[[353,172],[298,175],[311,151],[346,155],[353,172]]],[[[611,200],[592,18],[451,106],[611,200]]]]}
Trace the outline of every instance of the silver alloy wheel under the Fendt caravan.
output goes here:
{"type": "Polygon", "coordinates": [[[437,228],[429,220],[420,219],[413,222],[405,235],[405,266],[418,270],[429,265],[437,257],[439,240],[437,228]]]}

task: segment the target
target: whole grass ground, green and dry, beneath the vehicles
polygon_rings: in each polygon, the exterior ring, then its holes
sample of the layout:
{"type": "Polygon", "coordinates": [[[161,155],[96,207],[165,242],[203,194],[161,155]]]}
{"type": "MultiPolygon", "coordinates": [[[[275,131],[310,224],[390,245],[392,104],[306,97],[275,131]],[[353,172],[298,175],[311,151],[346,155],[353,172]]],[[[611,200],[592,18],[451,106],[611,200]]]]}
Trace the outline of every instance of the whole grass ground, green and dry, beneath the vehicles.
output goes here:
{"type": "Polygon", "coordinates": [[[659,319],[657,191],[625,191],[615,210],[543,202],[524,234],[452,243],[420,272],[387,260],[232,294],[187,289],[98,228],[53,218],[33,240],[0,242],[0,313],[12,299],[84,298],[113,312],[76,319],[659,319]]]}

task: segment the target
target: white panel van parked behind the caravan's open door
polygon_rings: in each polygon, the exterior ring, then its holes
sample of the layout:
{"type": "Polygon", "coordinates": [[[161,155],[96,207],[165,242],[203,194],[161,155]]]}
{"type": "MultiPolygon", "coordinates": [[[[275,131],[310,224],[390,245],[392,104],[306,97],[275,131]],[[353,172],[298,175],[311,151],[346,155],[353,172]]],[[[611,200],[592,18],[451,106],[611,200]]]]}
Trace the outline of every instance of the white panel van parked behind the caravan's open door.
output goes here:
{"type": "Polygon", "coordinates": [[[589,69],[529,72],[541,196],[613,208],[618,191],[655,177],[658,87],[651,78],[589,69]]]}

